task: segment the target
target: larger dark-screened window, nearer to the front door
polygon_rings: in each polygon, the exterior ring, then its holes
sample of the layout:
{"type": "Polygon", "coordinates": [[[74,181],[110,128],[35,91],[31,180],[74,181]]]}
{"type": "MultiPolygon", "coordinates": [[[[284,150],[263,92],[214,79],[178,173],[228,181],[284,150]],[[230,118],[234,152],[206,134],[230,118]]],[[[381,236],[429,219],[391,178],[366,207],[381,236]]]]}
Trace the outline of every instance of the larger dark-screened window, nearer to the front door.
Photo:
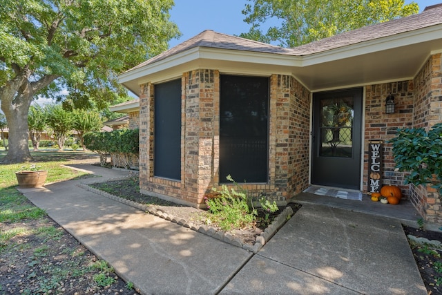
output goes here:
{"type": "Polygon", "coordinates": [[[220,77],[220,182],[267,182],[269,79],[220,77]]]}

